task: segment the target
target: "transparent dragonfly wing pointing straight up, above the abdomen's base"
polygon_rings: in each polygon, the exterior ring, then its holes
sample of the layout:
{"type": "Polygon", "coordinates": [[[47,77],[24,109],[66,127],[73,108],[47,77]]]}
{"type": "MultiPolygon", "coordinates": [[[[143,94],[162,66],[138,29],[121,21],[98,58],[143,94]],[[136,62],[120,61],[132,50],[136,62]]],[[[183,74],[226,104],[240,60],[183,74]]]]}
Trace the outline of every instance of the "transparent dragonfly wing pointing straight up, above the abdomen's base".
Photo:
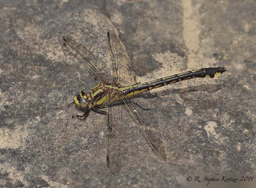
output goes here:
{"type": "Polygon", "coordinates": [[[119,37],[113,31],[108,31],[108,42],[110,46],[113,82],[119,86],[135,84],[135,75],[129,70],[131,65],[129,57],[121,44],[119,37]]]}

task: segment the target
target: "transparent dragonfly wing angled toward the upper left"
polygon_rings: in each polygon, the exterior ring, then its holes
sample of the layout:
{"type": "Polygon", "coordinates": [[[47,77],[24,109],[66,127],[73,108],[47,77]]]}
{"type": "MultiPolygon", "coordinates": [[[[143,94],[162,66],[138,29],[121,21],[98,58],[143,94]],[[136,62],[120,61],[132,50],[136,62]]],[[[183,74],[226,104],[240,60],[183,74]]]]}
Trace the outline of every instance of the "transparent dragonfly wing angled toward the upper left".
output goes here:
{"type": "Polygon", "coordinates": [[[89,51],[85,46],[77,43],[71,36],[63,36],[65,49],[73,55],[81,65],[86,65],[89,73],[95,78],[98,83],[111,81],[111,65],[103,62],[89,51]]]}

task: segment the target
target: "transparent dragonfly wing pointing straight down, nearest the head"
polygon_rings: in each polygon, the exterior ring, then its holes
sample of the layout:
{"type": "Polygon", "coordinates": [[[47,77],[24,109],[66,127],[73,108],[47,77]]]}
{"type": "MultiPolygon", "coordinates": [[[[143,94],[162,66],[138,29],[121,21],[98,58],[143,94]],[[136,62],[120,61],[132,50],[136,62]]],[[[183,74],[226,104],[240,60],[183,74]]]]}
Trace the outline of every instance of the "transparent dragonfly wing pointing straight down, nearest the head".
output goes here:
{"type": "MultiPolygon", "coordinates": [[[[108,101],[108,94],[106,101],[108,101]]],[[[109,107],[106,104],[107,165],[111,173],[119,173],[129,148],[129,117],[123,105],[109,107]]]]}

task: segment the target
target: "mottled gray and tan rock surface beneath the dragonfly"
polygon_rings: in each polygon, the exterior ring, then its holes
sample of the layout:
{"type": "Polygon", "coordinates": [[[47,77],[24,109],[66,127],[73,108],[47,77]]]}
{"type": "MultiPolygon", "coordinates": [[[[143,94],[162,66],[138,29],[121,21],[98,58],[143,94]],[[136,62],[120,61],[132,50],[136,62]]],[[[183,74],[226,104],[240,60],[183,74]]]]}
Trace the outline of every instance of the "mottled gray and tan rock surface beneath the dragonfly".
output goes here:
{"type": "Polygon", "coordinates": [[[195,176],[254,176],[255,1],[1,1],[0,10],[0,187],[205,187],[195,176]],[[74,94],[95,83],[61,38],[108,63],[108,30],[119,33],[140,82],[228,69],[144,95],[167,162],[127,122],[129,151],[116,175],[106,167],[104,116],[71,118],[74,94]]]}

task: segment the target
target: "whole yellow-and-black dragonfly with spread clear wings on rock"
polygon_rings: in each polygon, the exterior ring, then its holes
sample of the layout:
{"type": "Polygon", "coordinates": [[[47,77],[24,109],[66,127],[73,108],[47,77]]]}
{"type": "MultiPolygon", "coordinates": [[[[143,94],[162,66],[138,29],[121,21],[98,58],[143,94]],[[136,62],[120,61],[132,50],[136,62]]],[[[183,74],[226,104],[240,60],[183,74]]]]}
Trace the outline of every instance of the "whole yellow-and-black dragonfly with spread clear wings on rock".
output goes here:
{"type": "Polygon", "coordinates": [[[151,119],[153,109],[143,107],[135,96],[145,91],[156,89],[191,78],[215,78],[224,73],[225,68],[201,68],[185,73],[170,75],[146,83],[136,82],[127,52],[119,36],[108,31],[110,62],[96,57],[86,46],[77,43],[71,36],[63,36],[63,44],[68,53],[84,64],[95,80],[95,86],[89,92],[78,92],[73,103],[83,112],[76,115],[85,120],[91,111],[105,115],[107,126],[107,166],[111,173],[119,173],[127,154],[129,124],[133,120],[139,127],[151,150],[167,160],[165,147],[157,124],[151,119]],[[132,119],[132,120],[131,120],[132,119]]]}

